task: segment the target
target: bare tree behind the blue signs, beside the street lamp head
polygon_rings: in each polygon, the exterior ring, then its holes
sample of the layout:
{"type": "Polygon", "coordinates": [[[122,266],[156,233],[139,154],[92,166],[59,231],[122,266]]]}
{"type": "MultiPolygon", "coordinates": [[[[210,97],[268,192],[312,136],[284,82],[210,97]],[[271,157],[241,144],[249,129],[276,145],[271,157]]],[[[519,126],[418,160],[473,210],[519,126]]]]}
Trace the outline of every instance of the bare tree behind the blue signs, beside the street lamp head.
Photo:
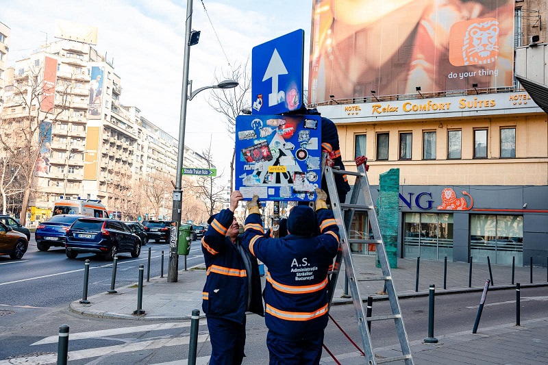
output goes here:
{"type": "MultiPolygon", "coordinates": [[[[242,64],[236,64],[228,71],[221,70],[221,75],[215,75],[215,82],[218,84],[221,79],[233,79],[238,81],[238,86],[232,89],[214,89],[208,104],[225,116],[225,125],[229,134],[236,131],[236,117],[242,114],[242,110],[251,108],[251,70],[249,69],[249,58],[242,64]]],[[[234,187],[234,159],[236,147],[232,152],[230,161],[230,192],[234,187]]]]}

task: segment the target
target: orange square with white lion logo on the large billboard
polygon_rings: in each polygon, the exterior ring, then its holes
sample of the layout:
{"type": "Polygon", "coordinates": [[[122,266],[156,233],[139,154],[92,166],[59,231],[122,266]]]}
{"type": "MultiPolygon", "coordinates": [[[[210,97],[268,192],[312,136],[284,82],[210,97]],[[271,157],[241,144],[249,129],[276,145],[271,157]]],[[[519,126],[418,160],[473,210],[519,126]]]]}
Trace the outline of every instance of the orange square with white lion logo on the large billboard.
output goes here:
{"type": "Polygon", "coordinates": [[[453,66],[490,64],[499,57],[499,21],[473,19],[455,23],[449,31],[449,62],[453,66]]]}

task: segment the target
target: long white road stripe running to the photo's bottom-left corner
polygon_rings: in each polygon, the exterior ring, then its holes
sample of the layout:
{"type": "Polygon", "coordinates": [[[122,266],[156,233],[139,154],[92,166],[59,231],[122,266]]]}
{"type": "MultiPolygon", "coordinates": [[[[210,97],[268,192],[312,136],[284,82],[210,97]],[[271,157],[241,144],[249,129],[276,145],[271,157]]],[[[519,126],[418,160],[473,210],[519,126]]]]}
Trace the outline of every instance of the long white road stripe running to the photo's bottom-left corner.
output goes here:
{"type": "MultiPolygon", "coordinates": [[[[71,336],[69,336],[69,339],[71,336]]],[[[197,342],[206,342],[209,339],[209,334],[199,335],[197,342]]],[[[114,346],[97,347],[93,349],[84,349],[69,352],[69,360],[83,360],[90,357],[104,357],[119,353],[129,353],[134,351],[160,349],[160,347],[167,346],[182,346],[189,344],[190,337],[176,337],[176,338],[162,338],[161,340],[149,340],[127,344],[116,344],[114,346]]],[[[57,354],[39,355],[31,357],[12,357],[10,360],[0,360],[0,365],[42,365],[42,364],[56,364],[57,354]]]]}

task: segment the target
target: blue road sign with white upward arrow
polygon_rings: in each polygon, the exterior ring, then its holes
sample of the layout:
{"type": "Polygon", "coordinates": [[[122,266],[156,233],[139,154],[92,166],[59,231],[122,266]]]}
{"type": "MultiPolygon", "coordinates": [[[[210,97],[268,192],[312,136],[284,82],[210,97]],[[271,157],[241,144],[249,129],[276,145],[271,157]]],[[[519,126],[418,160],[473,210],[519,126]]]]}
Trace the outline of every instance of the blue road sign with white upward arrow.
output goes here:
{"type": "Polygon", "coordinates": [[[304,31],[298,29],[253,47],[253,114],[282,114],[303,104],[304,31]]]}

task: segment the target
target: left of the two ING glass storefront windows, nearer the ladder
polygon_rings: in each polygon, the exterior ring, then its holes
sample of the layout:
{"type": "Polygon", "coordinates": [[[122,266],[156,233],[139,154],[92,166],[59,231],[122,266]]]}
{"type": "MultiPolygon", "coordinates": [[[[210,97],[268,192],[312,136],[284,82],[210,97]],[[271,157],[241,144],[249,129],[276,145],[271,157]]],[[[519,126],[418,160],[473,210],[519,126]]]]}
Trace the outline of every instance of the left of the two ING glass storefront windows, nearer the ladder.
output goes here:
{"type": "Polygon", "coordinates": [[[403,257],[453,260],[453,214],[403,214],[403,257]]]}

